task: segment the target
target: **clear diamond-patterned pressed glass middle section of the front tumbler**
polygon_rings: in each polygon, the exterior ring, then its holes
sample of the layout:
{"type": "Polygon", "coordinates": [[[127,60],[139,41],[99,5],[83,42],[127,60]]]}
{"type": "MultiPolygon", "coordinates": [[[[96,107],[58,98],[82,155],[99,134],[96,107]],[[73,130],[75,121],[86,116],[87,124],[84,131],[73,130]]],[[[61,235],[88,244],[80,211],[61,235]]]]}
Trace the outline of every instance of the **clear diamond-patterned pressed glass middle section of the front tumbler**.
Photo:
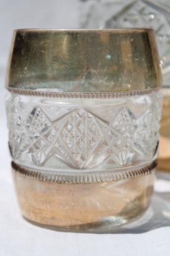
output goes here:
{"type": "Polygon", "coordinates": [[[67,101],[9,93],[11,155],[18,164],[54,171],[149,163],[157,157],[161,100],[160,92],[67,101]]]}

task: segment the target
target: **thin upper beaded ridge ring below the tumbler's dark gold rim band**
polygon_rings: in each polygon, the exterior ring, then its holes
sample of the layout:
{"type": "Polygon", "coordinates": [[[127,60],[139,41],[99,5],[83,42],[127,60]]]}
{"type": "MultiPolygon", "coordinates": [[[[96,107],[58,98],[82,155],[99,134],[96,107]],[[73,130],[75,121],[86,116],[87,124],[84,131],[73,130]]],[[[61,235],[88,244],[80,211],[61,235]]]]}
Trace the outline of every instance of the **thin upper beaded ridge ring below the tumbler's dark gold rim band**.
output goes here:
{"type": "Polygon", "coordinates": [[[87,98],[87,99],[109,99],[118,97],[128,97],[135,95],[145,95],[158,91],[161,87],[148,88],[143,90],[122,91],[122,92],[55,92],[55,91],[39,91],[26,90],[20,88],[8,87],[7,89],[15,94],[37,97],[53,97],[53,98],[87,98]]]}

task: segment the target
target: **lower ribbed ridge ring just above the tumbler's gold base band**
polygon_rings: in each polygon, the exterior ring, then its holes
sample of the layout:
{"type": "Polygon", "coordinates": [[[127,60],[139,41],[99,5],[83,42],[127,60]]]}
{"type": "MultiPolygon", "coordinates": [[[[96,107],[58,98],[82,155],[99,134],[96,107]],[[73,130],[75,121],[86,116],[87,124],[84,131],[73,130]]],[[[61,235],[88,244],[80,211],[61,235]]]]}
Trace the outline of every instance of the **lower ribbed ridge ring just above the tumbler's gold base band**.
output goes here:
{"type": "Polygon", "coordinates": [[[51,181],[58,183],[96,183],[106,181],[118,181],[127,178],[136,178],[143,175],[148,175],[156,168],[157,162],[154,161],[150,165],[143,166],[139,169],[132,169],[126,171],[112,171],[110,173],[93,173],[93,174],[56,174],[47,173],[43,171],[34,171],[24,168],[12,161],[11,163],[14,171],[28,178],[37,179],[41,181],[51,181]]]}

